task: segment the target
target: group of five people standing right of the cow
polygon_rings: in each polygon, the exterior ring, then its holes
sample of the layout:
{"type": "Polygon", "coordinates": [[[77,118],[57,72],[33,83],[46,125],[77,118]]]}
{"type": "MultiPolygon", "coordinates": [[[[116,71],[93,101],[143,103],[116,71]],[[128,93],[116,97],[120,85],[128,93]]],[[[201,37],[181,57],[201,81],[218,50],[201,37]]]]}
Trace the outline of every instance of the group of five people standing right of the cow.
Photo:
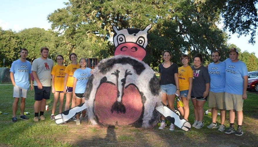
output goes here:
{"type": "MultiPolygon", "coordinates": [[[[162,102],[173,111],[176,95],[182,100],[184,106],[177,103],[178,111],[183,118],[188,120],[189,100],[194,106],[195,120],[192,127],[200,129],[204,126],[203,106],[208,100],[208,106],[212,109],[212,122],[208,128],[218,128],[218,131],[225,131],[226,110],[229,110],[230,127],[225,134],[235,133],[237,136],[243,134],[243,100],[247,99],[248,72],[244,62],[238,59],[238,50],[231,48],[229,58],[220,61],[220,53],[214,51],[211,59],[212,63],[207,67],[202,65],[203,58],[200,54],[193,57],[193,66],[189,66],[188,55],[181,57],[182,67],[171,62],[171,52],[166,50],[162,53],[164,62],[158,66],[160,73],[159,81],[161,85],[162,102]],[[208,99],[209,98],[209,99],[208,99]],[[220,125],[217,125],[217,111],[220,110],[220,125]],[[237,113],[237,131],[234,129],[235,111],[237,113]]],[[[165,117],[162,116],[159,129],[165,127],[165,117]]],[[[174,124],[169,130],[174,130],[174,124]]]]}

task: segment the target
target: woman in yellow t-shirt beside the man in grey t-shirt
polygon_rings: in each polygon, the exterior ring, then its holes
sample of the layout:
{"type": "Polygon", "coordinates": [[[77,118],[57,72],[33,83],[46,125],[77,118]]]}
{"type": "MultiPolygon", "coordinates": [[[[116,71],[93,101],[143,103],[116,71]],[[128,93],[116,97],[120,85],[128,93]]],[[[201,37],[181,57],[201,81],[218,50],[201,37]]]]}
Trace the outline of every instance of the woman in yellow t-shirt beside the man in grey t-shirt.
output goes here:
{"type": "Polygon", "coordinates": [[[60,94],[60,104],[59,104],[59,113],[63,111],[63,102],[64,102],[64,97],[65,93],[63,92],[64,88],[64,78],[65,78],[65,66],[63,65],[64,57],[62,55],[57,55],[56,56],[56,64],[52,71],[52,93],[54,94],[54,102],[52,105],[52,114],[50,116],[50,120],[55,119],[55,109],[56,109],[56,104],[58,101],[58,97],[60,94]]]}

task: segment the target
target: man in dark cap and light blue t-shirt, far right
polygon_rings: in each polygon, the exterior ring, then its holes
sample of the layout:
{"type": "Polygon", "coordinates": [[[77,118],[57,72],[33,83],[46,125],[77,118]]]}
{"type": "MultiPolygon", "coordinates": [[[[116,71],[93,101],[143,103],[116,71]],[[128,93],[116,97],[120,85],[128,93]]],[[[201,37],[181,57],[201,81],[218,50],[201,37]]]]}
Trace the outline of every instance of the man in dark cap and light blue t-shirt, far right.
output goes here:
{"type": "Polygon", "coordinates": [[[246,89],[248,84],[248,71],[244,62],[238,59],[238,50],[231,48],[226,64],[226,85],[225,104],[229,110],[230,128],[225,134],[235,133],[237,136],[243,135],[243,102],[247,99],[246,89]],[[237,131],[234,129],[235,111],[237,111],[237,131]]]}

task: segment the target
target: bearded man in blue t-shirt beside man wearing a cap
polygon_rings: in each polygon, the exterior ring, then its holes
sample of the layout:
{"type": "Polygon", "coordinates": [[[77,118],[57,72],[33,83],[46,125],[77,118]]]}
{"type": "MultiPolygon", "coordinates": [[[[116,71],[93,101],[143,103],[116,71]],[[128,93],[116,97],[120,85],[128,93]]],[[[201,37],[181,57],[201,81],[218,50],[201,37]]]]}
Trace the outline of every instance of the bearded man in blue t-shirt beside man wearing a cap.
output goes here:
{"type": "Polygon", "coordinates": [[[223,132],[225,130],[225,118],[226,118],[226,106],[225,106],[225,68],[226,64],[220,62],[220,53],[214,51],[212,53],[212,63],[208,66],[210,75],[210,92],[209,92],[209,107],[212,108],[212,123],[207,126],[208,128],[217,128],[217,113],[220,109],[220,125],[218,131],[223,132]]]}

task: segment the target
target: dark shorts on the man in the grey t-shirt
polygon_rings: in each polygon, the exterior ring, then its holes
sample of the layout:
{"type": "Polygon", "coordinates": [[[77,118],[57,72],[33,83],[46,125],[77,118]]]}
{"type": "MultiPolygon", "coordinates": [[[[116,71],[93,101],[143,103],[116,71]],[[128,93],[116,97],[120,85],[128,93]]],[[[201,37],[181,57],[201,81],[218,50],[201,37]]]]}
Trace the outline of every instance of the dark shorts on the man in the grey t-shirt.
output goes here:
{"type": "Polygon", "coordinates": [[[38,86],[34,86],[36,101],[41,101],[42,99],[50,99],[50,90],[51,87],[43,86],[42,89],[38,89],[38,86]]]}

